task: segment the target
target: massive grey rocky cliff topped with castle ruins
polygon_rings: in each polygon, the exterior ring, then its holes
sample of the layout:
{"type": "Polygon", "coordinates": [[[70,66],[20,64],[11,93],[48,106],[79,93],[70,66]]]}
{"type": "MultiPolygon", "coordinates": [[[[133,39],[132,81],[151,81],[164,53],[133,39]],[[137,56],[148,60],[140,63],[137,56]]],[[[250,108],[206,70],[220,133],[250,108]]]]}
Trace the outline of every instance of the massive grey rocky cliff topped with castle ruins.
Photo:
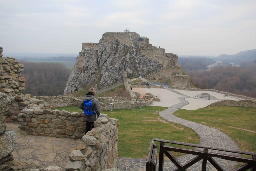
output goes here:
{"type": "MultiPolygon", "coordinates": [[[[165,49],[149,44],[148,38],[130,33],[142,76],[163,66],[177,65],[177,55],[165,53],[165,49]]],[[[129,78],[139,76],[129,33],[104,33],[99,43],[83,43],[64,95],[89,87],[99,90],[112,85],[123,79],[123,67],[129,78]]]]}

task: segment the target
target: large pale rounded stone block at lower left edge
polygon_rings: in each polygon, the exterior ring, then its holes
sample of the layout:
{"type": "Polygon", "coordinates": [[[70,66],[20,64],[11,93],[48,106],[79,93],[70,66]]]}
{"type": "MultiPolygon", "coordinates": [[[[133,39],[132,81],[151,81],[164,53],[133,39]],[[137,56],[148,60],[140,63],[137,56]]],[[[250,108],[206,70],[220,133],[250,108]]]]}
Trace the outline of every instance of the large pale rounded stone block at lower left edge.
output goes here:
{"type": "Polygon", "coordinates": [[[14,131],[0,135],[0,159],[10,155],[17,146],[17,137],[14,131]]]}

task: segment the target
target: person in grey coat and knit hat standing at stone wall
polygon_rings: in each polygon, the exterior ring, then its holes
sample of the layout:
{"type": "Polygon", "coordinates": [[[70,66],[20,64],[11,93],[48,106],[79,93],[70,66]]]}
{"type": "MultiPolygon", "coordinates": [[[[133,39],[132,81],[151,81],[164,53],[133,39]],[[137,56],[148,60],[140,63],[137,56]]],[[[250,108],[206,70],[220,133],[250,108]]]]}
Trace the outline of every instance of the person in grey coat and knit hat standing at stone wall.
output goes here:
{"type": "Polygon", "coordinates": [[[96,90],[95,88],[90,88],[89,92],[86,94],[85,98],[83,101],[80,103],[79,108],[84,110],[84,101],[85,100],[91,100],[92,101],[92,106],[91,109],[94,111],[94,114],[91,116],[86,116],[86,129],[85,129],[85,134],[90,131],[92,128],[94,128],[93,122],[99,117],[100,115],[100,106],[99,106],[99,101],[98,99],[95,98],[96,96],[96,90]],[[96,116],[97,115],[97,116],[96,116]]]}

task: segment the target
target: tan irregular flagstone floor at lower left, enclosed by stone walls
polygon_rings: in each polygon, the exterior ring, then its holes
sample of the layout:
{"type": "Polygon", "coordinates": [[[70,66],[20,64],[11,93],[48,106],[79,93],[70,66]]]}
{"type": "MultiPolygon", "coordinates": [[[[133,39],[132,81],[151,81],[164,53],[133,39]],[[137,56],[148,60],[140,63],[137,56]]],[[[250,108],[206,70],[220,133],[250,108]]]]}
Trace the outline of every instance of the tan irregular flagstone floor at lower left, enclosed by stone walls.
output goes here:
{"type": "Polygon", "coordinates": [[[76,149],[81,140],[44,136],[21,135],[18,124],[7,123],[7,130],[17,135],[17,147],[12,155],[15,160],[29,161],[42,168],[60,166],[63,169],[69,161],[69,153],[76,149]]]}

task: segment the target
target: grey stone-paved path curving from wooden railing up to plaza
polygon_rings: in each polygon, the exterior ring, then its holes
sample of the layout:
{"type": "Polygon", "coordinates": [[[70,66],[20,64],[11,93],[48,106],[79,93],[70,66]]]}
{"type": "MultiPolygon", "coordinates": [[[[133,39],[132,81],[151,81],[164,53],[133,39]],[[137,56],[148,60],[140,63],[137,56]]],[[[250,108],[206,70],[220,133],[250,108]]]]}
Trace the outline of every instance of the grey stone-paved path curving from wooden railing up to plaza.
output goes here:
{"type": "MultiPolygon", "coordinates": [[[[211,146],[215,148],[239,150],[239,147],[237,146],[237,144],[229,136],[227,136],[220,130],[212,127],[208,127],[199,123],[191,122],[185,119],[181,119],[173,115],[175,111],[180,109],[182,106],[188,104],[185,98],[193,98],[193,97],[186,96],[170,88],[168,88],[167,90],[172,91],[178,95],[181,95],[182,97],[178,98],[180,100],[180,103],[175,104],[170,108],[159,112],[159,115],[162,118],[170,122],[181,124],[185,127],[193,129],[201,139],[200,145],[206,145],[206,146],[211,146]]],[[[215,152],[218,152],[218,151],[215,151],[215,152]]],[[[227,152],[225,153],[229,155],[234,155],[227,152]]],[[[192,159],[193,157],[194,155],[186,154],[181,157],[178,157],[178,161],[181,164],[184,164],[190,159],[192,159]]],[[[218,162],[218,164],[224,170],[231,170],[234,166],[237,165],[237,162],[228,161],[228,160],[219,159],[219,158],[214,158],[214,159],[218,162]]],[[[146,168],[145,163],[146,163],[146,159],[119,158],[118,167],[121,170],[145,170],[146,168]]],[[[202,161],[199,161],[196,164],[189,167],[187,170],[201,170],[201,165],[202,165],[202,161]]],[[[176,169],[176,167],[169,160],[164,162],[164,166],[165,166],[164,170],[176,169]]],[[[207,162],[206,170],[216,170],[216,169],[209,162],[207,162]]]]}

